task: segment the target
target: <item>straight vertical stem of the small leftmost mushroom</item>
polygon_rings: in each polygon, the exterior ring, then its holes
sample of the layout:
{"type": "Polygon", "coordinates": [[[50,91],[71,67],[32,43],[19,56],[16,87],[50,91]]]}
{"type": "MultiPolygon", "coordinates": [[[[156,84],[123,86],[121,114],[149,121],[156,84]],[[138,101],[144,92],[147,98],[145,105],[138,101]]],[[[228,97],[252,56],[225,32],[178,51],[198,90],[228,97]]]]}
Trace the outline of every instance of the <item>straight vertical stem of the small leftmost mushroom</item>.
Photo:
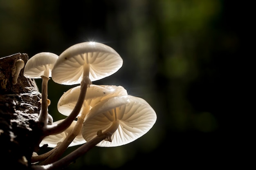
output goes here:
{"type": "Polygon", "coordinates": [[[49,81],[49,78],[42,75],[41,76],[43,81],[42,81],[42,103],[41,103],[41,110],[40,114],[38,117],[39,122],[43,123],[43,127],[46,127],[48,124],[48,90],[47,90],[47,84],[49,81]]]}

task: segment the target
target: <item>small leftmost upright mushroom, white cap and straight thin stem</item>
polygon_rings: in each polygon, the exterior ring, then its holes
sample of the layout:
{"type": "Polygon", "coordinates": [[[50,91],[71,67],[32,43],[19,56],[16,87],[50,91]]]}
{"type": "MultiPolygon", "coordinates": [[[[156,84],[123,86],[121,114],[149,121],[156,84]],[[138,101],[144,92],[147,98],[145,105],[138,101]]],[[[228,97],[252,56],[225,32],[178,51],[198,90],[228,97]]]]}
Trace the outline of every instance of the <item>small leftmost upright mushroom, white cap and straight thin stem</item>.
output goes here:
{"type": "Polygon", "coordinates": [[[43,123],[43,126],[47,125],[48,121],[48,102],[47,102],[47,84],[49,77],[52,76],[52,68],[58,59],[58,55],[49,52],[37,53],[32,56],[25,65],[23,75],[27,78],[42,78],[42,104],[40,115],[38,117],[39,122],[43,123]]]}

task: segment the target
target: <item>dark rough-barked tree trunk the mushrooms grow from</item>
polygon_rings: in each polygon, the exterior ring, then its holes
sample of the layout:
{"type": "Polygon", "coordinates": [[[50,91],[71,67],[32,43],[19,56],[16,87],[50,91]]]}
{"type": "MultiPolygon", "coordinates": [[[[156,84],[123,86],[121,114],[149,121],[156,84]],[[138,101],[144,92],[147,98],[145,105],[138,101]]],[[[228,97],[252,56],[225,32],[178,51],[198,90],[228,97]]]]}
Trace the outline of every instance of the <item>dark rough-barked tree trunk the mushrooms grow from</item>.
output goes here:
{"type": "Polygon", "coordinates": [[[41,130],[37,118],[41,94],[34,79],[20,71],[17,84],[15,62],[28,60],[27,54],[17,53],[0,58],[0,169],[29,169],[32,152],[37,149],[41,130]],[[5,165],[5,166],[4,166],[5,165]]]}

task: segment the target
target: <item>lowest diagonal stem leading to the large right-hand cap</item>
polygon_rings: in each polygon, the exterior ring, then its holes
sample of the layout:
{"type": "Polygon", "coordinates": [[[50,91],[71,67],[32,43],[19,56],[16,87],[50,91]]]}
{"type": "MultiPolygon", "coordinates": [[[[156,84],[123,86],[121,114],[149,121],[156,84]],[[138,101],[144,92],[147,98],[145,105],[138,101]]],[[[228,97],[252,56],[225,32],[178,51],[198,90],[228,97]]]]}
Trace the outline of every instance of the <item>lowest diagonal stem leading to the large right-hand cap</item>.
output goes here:
{"type": "Polygon", "coordinates": [[[114,121],[110,128],[108,128],[105,132],[101,133],[98,132],[97,136],[88,141],[87,143],[83,144],[73,152],[71,152],[69,155],[63,157],[62,159],[50,163],[47,165],[39,166],[39,165],[32,165],[31,168],[33,170],[56,170],[60,168],[64,168],[68,166],[70,163],[75,161],[77,158],[84,155],[86,152],[88,152],[90,149],[92,149],[94,146],[96,146],[99,142],[103,141],[104,139],[111,138],[112,134],[117,130],[119,126],[119,121],[114,121]]]}

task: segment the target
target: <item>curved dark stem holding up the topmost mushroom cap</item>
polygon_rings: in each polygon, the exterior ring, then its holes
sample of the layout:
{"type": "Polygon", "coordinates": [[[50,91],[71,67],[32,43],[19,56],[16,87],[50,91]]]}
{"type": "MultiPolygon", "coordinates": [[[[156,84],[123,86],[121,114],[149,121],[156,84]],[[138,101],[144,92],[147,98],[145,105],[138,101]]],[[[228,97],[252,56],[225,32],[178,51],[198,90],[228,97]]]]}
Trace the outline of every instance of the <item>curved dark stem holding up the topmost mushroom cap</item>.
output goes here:
{"type": "Polygon", "coordinates": [[[45,128],[45,130],[43,132],[44,133],[43,137],[63,132],[66,128],[68,128],[70,126],[72,121],[76,118],[76,116],[79,114],[79,112],[81,110],[83,101],[85,99],[87,87],[90,86],[90,84],[91,84],[91,81],[89,79],[89,76],[83,77],[83,79],[81,81],[81,91],[80,91],[79,98],[76,102],[76,106],[74,107],[74,109],[72,110],[70,115],[68,117],[66,117],[61,123],[56,124],[56,125],[48,125],[47,128],[45,128]]]}

